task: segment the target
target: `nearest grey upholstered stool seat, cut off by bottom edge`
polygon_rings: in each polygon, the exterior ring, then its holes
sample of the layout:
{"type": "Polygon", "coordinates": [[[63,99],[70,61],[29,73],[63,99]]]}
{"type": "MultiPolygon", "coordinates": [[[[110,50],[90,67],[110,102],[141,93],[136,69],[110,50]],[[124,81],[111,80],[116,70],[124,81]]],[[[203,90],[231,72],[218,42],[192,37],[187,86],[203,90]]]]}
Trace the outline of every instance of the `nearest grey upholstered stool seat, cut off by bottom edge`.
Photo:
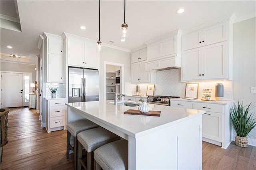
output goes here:
{"type": "Polygon", "coordinates": [[[118,140],[105,144],[94,150],[96,170],[127,170],[128,141],[118,140]]]}

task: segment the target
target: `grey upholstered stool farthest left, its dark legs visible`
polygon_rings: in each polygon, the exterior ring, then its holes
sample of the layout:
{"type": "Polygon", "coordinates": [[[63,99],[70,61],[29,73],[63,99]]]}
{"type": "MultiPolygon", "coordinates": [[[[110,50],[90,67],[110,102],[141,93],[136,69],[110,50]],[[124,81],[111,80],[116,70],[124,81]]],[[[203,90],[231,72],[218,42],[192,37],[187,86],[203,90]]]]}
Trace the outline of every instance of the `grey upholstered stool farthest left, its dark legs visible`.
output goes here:
{"type": "Polygon", "coordinates": [[[72,123],[68,123],[67,125],[67,153],[66,157],[69,159],[69,151],[70,149],[74,152],[74,167],[76,169],[77,167],[77,134],[88,130],[91,128],[99,127],[99,125],[93,123],[92,121],[89,121],[88,119],[82,119],[79,121],[75,121],[72,123]],[[74,136],[74,146],[70,144],[70,138],[71,135],[74,136]]]}

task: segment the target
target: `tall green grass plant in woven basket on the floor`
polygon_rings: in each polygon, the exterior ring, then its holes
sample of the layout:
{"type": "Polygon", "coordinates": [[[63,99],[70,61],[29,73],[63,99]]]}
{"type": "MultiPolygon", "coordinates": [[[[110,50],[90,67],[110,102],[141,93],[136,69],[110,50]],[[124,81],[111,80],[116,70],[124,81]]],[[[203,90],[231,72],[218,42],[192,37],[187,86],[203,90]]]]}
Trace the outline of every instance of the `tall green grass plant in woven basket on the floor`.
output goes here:
{"type": "Polygon", "coordinates": [[[243,148],[247,148],[247,136],[256,127],[256,117],[248,114],[255,107],[251,104],[243,106],[243,101],[238,100],[238,106],[234,103],[230,106],[230,121],[236,131],[235,143],[243,148]]]}

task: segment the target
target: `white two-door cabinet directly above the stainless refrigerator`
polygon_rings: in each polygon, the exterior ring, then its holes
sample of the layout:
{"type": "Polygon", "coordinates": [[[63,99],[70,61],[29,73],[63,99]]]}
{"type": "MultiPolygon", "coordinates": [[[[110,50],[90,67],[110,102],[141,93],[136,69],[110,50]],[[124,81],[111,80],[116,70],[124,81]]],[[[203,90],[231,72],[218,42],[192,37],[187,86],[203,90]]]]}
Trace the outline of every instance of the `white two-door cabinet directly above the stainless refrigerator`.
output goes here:
{"type": "Polygon", "coordinates": [[[67,61],[68,66],[85,67],[98,69],[99,68],[99,53],[97,53],[97,43],[74,36],[72,34],[64,33],[62,35],[66,39],[67,61]]]}

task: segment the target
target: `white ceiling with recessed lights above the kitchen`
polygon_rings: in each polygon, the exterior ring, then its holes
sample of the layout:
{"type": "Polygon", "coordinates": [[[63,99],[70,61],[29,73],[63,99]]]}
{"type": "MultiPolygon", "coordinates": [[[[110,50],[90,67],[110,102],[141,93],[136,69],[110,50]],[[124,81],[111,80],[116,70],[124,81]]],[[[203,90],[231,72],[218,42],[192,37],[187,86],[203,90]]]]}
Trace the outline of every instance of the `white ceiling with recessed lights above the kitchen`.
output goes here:
{"type": "MultiPolygon", "coordinates": [[[[22,32],[1,28],[1,53],[24,55],[35,63],[40,54],[39,35],[43,32],[61,36],[63,32],[98,41],[98,0],[49,1],[18,0],[22,32]],[[86,26],[81,30],[79,26],[86,26]],[[6,46],[13,48],[8,49],[6,46]]],[[[187,30],[210,20],[235,13],[239,22],[256,16],[256,1],[160,1],[126,0],[126,24],[130,39],[120,42],[124,22],[123,0],[100,2],[100,40],[125,49],[145,45],[144,42],[176,29],[187,30]],[[183,14],[176,14],[184,8],[183,14]]],[[[1,9],[4,7],[1,6],[1,9]]],[[[2,13],[2,12],[1,12],[2,13]]]]}

